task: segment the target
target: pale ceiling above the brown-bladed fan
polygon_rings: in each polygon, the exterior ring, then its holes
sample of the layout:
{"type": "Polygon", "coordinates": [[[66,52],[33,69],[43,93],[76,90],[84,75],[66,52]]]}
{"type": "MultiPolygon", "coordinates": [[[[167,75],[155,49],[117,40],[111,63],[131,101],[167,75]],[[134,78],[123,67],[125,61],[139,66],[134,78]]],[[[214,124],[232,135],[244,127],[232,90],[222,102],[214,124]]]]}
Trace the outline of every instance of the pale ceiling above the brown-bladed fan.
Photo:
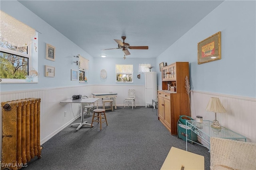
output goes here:
{"type": "MultiPolygon", "coordinates": [[[[92,57],[124,57],[114,39],[126,36],[127,58],[156,58],[223,0],[19,0],[92,57]]],[[[209,21],[211,24],[212,21],[209,21]]],[[[40,31],[40,30],[39,30],[40,31]]]]}

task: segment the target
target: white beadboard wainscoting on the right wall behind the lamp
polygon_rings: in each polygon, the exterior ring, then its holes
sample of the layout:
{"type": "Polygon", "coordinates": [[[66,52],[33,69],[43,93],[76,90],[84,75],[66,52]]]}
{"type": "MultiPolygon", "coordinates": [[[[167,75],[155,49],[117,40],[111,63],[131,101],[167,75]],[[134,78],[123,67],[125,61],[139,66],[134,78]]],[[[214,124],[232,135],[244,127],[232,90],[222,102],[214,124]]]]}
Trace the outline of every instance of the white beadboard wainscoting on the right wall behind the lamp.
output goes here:
{"type": "MultiPolygon", "coordinates": [[[[191,117],[201,115],[213,121],[215,113],[205,111],[210,98],[219,98],[226,113],[216,113],[220,125],[244,135],[247,142],[256,143],[256,99],[208,92],[191,92],[191,117]]],[[[203,144],[203,143],[202,143],[203,144]]]]}

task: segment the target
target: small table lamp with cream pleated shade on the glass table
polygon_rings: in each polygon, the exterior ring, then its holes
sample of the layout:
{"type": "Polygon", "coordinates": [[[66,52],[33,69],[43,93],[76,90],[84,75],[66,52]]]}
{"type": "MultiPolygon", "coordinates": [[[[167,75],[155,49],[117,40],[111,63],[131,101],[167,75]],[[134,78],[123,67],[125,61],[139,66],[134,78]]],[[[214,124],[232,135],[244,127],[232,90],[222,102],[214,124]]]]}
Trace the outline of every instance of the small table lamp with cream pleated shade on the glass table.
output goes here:
{"type": "Polygon", "coordinates": [[[212,122],[211,127],[216,128],[216,129],[221,129],[220,123],[216,119],[216,112],[226,113],[226,110],[222,106],[220,99],[219,98],[210,98],[209,103],[205,110],[215,112],[215,120],[212,122]]]}

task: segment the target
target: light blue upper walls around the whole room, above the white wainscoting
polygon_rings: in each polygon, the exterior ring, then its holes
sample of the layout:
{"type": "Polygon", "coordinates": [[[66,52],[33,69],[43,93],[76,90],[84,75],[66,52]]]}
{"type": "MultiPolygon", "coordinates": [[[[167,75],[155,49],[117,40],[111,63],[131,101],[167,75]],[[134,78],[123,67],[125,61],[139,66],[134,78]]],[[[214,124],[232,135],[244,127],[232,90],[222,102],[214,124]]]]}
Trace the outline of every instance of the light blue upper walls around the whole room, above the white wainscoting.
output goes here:
{"type": "Polygon", "coordinates": [[[136,78],[139,63],[151,63],[158,72],[158,86],[161,86],[159,63],[176,61],[190,63],[190,83],[192,90],[245,96],[256,98],[256,2],[224,1],[208,16],[184,34],[164,51],[157,59],[94,59],[80,49],[45,21],[22,6],[18,1],[0,1],[1,10],[40,31],[38,34],[37,84],[1,84],[1,92],[79,86],[70,81],[70,69],[78,70],[74,55],[89,59],[87,84],[117,84],[114,80],[115,64],[134,64],[135,85],[144,84],[144,75],[136,78]],[[197,64],[197,43],[207,37],[222,32],[222,59],[210,63],[197,64]],[[45,59],[45,46],[56,47],[56,61],[45,59]],[[54,66],[54,78],[44,76],[44,65],[54,66]],[[108,77],[100,79],[100,70],[105,69],[108,77]]]}

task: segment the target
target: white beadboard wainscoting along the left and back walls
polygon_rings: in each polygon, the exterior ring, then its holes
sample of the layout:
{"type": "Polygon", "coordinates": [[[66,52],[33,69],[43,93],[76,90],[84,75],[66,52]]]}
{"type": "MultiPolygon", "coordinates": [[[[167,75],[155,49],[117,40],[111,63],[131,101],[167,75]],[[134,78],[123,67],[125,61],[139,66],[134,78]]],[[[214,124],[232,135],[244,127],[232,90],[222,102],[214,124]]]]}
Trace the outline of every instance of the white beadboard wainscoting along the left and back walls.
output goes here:
{"type": "MultiPolygon", "coordinates": [[[[74,94],[92,97],[92,93],[115,92],[117,93],[117,106],[124,106],[124,98],[128,95],[128,89],[136,91],[136,106],[145,106],[144,86],[120,86],[120,85],[84,85],[61,88],[48,88],[38,90],[24,90],[13,92],[1,92],[0,101],[7,102],[24,98],[41,98],[40,105],[40,139],[41,145],[56,135],[78,117],[80,117],[79,104],[63,104],[60,101],[71,98],[74,94]],[[64,117],[64,111],[67,116],[64,117]]],[[[101,100],[98,102],[102,106],[101,100]]],[[[127,109],[130,109],[127,107],[127,109]]],[[[0,122],[2,124],[2,107],[0,108],[0,122]]],[[[75,131],[76,128],[74,128],[75,131]]],[[[0,126],[0,135],[2,136],[2,125],[0,126]]],[[[2,138],[0,139],[2,153],[2,138]]],[[[1,155],[0,155],[1,159],[1,155]]]]}

